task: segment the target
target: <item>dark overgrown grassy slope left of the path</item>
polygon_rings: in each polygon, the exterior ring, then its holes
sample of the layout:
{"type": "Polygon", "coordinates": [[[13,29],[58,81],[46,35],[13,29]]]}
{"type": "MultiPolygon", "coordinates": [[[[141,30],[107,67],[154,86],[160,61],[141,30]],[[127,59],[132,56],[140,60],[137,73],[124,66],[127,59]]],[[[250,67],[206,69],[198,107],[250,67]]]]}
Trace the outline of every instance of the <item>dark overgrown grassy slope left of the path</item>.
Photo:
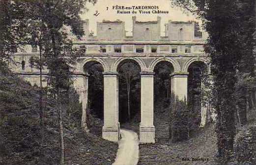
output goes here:
{"type": "MultiPolygon", "coordinates": [[[[38,88],[15,75],[0,75],[0,165],[58,164],[55,105],[55,100],[47,100],[43,147],[38,148],[38,88]]],[[[69,120],[64,116],[64,121],[69,120]]],[[[68,126],[64,129],[64,145],[67,165],[111,165],[117,151],[117,143],[68,126]]]]}

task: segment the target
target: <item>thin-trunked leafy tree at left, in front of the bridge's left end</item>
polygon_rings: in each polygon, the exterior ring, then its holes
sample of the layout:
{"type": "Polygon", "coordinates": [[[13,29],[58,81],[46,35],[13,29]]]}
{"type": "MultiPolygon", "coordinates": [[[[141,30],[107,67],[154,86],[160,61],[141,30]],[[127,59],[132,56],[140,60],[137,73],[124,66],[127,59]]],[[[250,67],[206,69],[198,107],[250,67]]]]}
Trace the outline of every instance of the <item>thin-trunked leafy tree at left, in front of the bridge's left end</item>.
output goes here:
{"type": "MultiPolygon", "coordinates": [[[[87,0],[37,0],[26,1],[28,14],[33,15],[31,44],[38,45],[40,50],[39,70],[42,65],[48,69],[49,92],[59,102],[58,124],[60,143],[60,165],[64,165],[64,141],[62,124],[63,94],[67,94],[72,84],[72,66],[81,53],[72,49],[65,26],[79,37],[84,34],[80,14],[87,0]],[[37,42],[35,42],[37,38],[37,42]],[[43,60],[42,60],[43,55],[43,60]],[[44,61],[44,63],[42,62],[44,61]]],[[[91,0],[89,0],[91,1],[91,0]]],[[[94,1],[95,2],[95,1],[94,1]]],[[[17,3],[20,3],[19,1],[17,3]]],[[[25,2],[21,2],[25,3],[25,2]]],[[[41,110],[40,110],[41,111],[41,110]]],[[[42,112],[40,112],[42,113],[42,112]]]]}

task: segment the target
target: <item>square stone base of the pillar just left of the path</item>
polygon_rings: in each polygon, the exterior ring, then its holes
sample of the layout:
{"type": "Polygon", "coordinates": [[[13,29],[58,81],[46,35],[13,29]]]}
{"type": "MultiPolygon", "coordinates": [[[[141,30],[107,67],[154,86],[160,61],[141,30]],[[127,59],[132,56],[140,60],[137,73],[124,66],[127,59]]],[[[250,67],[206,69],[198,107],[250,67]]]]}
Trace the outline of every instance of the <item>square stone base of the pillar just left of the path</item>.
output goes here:
{"type": "Polygon", "coordinates": [[[104,127],[102,128],[102,138],[108,141],[117,142],[120,139],[119,128],[114,129],[113,127],[104,127]]]}

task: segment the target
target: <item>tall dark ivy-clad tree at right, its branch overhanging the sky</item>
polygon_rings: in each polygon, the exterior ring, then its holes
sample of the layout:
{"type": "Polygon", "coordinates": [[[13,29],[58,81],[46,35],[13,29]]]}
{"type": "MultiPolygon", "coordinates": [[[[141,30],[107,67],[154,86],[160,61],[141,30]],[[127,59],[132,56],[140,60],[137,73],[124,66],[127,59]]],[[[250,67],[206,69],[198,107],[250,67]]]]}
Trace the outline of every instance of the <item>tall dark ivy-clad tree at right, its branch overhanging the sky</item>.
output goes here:
{"type": "MultiPolygon", "coordinates": [[[[255,3],[252,0],[250,2],[255,3]]],[[[218,156],[228,161],[233,155],[235,135],[236,70],[241,64],[243,43],[246,43],[244,33],[241,32],[241,27],[244,27],[241,23],[244,15],[241,4],[246,2],[193,0],[190,3],[190,0],[173,0],[173,3],[197,14],[209,33],[205,51],[211,57],[214,81],[213,106],[217,112],[218,156]]],[[[252,9],[250,11],[253,12],[252,9]]]]}

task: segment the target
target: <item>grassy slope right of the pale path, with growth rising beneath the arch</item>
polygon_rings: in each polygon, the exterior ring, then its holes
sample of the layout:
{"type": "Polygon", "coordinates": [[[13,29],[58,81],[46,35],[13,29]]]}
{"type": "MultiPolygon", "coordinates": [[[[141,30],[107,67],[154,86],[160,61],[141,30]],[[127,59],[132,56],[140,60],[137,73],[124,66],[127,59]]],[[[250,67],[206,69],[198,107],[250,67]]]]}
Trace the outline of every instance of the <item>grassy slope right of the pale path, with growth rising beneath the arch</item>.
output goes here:
{"type": "Polygon", "coordinates": [[[189,141],[169,142],[168,110],[163,104],[154,109],[156,143],[140,145],[138,165],[213,165],[216,153],[216,138],[213,128],[199,130],[189,141]],[[182,158],[209,158],[209,162],[182,161],[182,158]]]}

